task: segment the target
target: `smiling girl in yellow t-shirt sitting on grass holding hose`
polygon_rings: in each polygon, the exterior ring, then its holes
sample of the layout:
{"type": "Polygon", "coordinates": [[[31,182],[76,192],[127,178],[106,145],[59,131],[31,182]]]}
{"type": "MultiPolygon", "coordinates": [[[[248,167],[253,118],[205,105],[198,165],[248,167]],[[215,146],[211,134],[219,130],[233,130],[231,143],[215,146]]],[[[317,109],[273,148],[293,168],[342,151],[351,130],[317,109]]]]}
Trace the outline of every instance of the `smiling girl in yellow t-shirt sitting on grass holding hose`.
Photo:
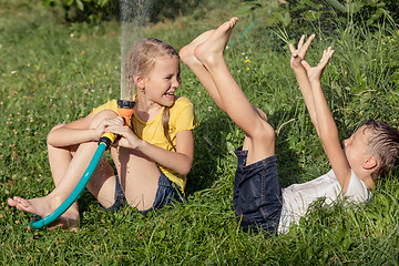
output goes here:
{"type": "MultiPolygon", "coordinates": [[[[54,126],[48,135],[48,152],[55,188],[44,197],[8,203],[41,217],[52,213],[70,195],[88,167],[104,132],[121,139],[111,147],[114,168],[102,158],[88,184],[106,209],[123,202],[144,215],[172,200],[182,201],[194,153],[193,104],[175,96],[181,84],[178,53],[156,39],[136,42],[126,61],[127,88],[137,91],[130,126],[116,113],[116,101],[94,109],[84,119],[54,126]]],[[[79,222],[74,203],[59,225],[79,222]]]]}

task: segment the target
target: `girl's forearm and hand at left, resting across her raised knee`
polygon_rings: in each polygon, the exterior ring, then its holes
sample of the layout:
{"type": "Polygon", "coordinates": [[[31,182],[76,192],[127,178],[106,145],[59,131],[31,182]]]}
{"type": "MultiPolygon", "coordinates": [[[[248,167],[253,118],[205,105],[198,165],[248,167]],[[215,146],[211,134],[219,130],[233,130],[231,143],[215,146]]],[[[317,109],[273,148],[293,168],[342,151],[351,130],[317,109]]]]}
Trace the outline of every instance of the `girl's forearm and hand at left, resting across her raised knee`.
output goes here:
{"type": "Polygon", "coordinates": [[[98,141],[104,132],[104,124],[100,124],[96,129],[91,129],[90,124],[94,117],[91,112],[88,116],[73,121],[61,127],[52,130],[47,142],[53,146],[70,146],[83,142],[98,141]]]}

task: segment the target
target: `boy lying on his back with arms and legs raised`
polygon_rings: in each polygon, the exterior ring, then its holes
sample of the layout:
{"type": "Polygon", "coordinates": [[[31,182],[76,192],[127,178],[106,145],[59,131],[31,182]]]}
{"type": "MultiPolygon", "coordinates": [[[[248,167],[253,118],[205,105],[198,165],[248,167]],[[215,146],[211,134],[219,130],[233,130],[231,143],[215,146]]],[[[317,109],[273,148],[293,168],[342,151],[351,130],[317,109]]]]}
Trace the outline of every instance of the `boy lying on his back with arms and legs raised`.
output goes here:
{"type": "Polygon", "coordinates": [[[215,31],[204,32],[184,47],[180,55],[215,103],[245,132],[243,146],[235,151],[238,165],[233,195],[235,214],[243,229],[287,232],[290,223],[298,222],[319,197],[325,197],[327,204],[342,195],[355,203],[368,201],[375,176],[397,164],[399,132],[383,122],[372,121],[346,140],[342,150],[320,86],[323,70],[334,50],[325,50],[320,62],[311,68],[304,59],[315,35],[306,43],[301,37],[297,50],[289,45],[290,63],[332,170],[314,181],[282,190],[275,131],[267,123],[267,116],[249,103],[224,60],[224,49],[237,20],[232,18],[215,31]],[[389,155],[385,155],[387,146],[389,155]]]}

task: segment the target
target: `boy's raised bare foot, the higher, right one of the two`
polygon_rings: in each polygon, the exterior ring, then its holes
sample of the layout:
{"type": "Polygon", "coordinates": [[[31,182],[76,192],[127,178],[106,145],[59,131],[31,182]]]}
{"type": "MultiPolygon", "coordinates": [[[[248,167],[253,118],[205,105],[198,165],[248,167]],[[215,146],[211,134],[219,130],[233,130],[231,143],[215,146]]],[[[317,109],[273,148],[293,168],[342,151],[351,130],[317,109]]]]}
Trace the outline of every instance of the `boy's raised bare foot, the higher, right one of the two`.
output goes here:
{"type": "Polygon", "coordinates": [[[234,17],[229,21],[221,24],[213,34],[195,50],[195,57],[205,65],[218,62],[223,59],[223,53],[232,34],[234,25],[237,23],[238,18],[234,17]]]}

